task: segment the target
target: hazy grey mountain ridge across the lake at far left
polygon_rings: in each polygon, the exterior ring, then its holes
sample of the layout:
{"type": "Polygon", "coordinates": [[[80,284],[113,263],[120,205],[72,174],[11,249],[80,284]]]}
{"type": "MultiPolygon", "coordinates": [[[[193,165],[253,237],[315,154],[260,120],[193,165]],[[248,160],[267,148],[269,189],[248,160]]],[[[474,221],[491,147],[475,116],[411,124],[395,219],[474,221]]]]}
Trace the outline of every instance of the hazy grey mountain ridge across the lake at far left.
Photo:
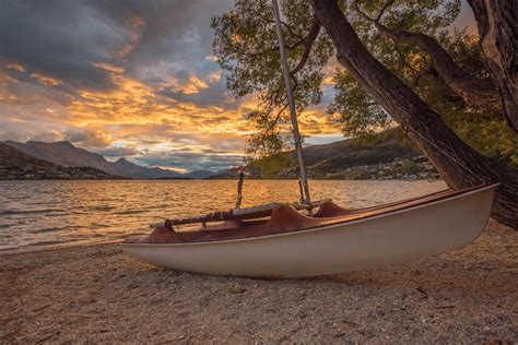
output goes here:
{"type": "Polygon", "coordinates": [[[156,167],[143,167],[119,158],[116,162],[108,162],[99,154],[75,147],[68,141],[46,143],[42,141],[27,141],[20,143],[15,141],[5,141],[7,145],[12,146],[26,155],[43,159],[62,167],[92,167],[106,174],[136,178],[136,179],[200,179],[207,178],[215,172],[209,170],[196,170],[187,174],[180,174],[168,169],[156,167]]]}

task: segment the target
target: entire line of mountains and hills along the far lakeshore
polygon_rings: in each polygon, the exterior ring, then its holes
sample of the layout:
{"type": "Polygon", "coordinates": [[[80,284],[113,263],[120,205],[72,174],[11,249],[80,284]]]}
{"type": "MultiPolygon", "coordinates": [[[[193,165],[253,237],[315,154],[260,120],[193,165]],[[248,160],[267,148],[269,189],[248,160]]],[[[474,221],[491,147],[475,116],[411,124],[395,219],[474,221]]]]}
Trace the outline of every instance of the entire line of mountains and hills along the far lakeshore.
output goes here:
{"type": "MultiPolygon", "coordinates": [[[[75,147],[67,141],[55,143],[40,141],[19,143],[8,141],[5,144],[7,145],[3,146],[16,148],[19,152],[19,154],[14,155],[16,157],[20,157],[20,154],[23,153],[34,159],[40,159],[42,162],[51,164],[52,167],[49,169],[52,171],[56,170],[55,166],[68,168],[91,167],[96,169],[95,171],[122,178],[235,179],[237,170],[239,169],[237,167],[217,172],[197,170],[188,174],[179,174],[157,167],[140,166],[126,158],[108,162],[102,155],[75,147]]],[[[10,154],[7,153],[4,157],[2,157],[0,154],[0,170],[3,166],[2,171],[7,175],[10,172],[9,169],[5,168],[5,162],[9,160],[9,155],[10,154]]],[[[390,179],[404,178],[405,176],[409,178],[436,177],[436,171],[427,159],[422,157],[414,147],[402,140],[395,130],[378,133],[369,141],[352,139],[337,141],[330,144],[307,146],[304,148],[304,156],[307,174],[314,179],[390,179]]],[[[42,162],[37,164],[30,162],[27,157],[24,157],[21,162],[26,162],[27,165],[32,167],[42,167],[44,165],[42,162]]],[[[24,164],[19,164],[17,166],[23,167],[23,165],[24,164]]],[[[247,165],[246,170],[248,178],[258,179],[296,179],[298,176],[297,159],[293,151],[256,159],[247,165]]],[[[23,172],[25,170],[17,169],[16,171],[23,172]]],[[[46,170],[43,169],[42,171],[46,170]]],[[[92,170],[89,174],[95,176],[95,171],[92,170]]],[[[21,176],[20,174],[22,172],[16,172],[16,176],[21,176]]],[[[30,171],[25,175],[32,176],[34,174],[30,171]]],[[[45,176],[48,176],[48,174],[45,176]]],[[[81,176],[81,174],[79,176],[81,176]]],[[[101,176],[99,178],[105,177],[101,176]]]]}

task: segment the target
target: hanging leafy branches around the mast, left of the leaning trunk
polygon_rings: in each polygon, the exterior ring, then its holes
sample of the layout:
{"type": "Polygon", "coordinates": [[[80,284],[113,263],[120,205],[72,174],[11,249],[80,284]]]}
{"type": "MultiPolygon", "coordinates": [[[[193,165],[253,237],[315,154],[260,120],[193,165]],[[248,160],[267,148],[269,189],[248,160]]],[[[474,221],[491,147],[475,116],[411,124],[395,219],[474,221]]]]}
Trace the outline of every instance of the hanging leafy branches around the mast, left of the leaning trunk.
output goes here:
{"type": "MultiPolygon", "coordinates": [[[[304,38],[314,20],[308,1],[281,1],[281,8],[287,60],[293,71],[304,55],[304,38]]],[[[290,114],[270,1],[237,0],[234,10],[212,19],[212,28],[214,55],[228,72],[227,88],[237,97],[254,95],[258,99],[256,109],[247,114],[257,130],[250,136],[248,150],[267,155],[285,148],[285,135],[281,135],[278,124],[287,123],[290,114]]],[[[304,69],[293,74],[298,112],[320,103],[321,70],[331,55],[331,43],[320,34],[304,69]]]]}

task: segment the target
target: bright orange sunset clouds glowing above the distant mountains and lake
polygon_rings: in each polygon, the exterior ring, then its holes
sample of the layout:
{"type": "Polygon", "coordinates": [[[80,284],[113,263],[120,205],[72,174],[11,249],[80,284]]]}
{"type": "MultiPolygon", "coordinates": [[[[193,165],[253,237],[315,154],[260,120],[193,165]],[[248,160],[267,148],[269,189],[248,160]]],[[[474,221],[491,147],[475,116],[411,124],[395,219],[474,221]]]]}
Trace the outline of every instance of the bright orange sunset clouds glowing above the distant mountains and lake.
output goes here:
{"type": "MultiPolygon", "coordinates": [[[[228,92],[223,92],[220,105],[201,106],[193,100],[175,99],[162,93],[170,88],[187,96],[196,95],[217,83],[222,78],[221,71],[214,71],[204,78],[192,73],[184,81],[169,79],[161,84],[149,84],[129,76],[120,64],[91,64],[108,72],[114,85],[111,90],[78,90],[76,95],[68,96],[68,100],[61,105],[54,102],[52,97],[42,103],[37,100],[40,98],[24,96],[26,102],[17,103],[19,108],[13,114],[27,111],[27,106],[32,103],[40,105],[26,123],[30,124],[37,118],[45,119],[49,124],[54,121],[59,124],[58,129],[50,127],[45,138],[70,140],[83,147],[133,147],[139,156],[158,158],[164,153],[169,153],[170,156],[189,153],[199,157],[210,155],[211,159],[221,162],[235,162],[238,159],[236,157],[243,155],[245,139],[254,132],[245,115],[257,107],[255,97],[236,99],[228,92]]],[[[38,97],[59,93],[51,86],[59,85],[61,81],[43,73],[32,73],[31,76],[39,84],[23,84],[27,95],[36,91],[38,97]]],[[[0,70],[0,85],[1,82],[12,85],[13,80],[0,70]]],[[[7,87],[0,87],[2,104],[8,104],[7,97],[13,99],[14,95],[8,93],[7,87]]],[[[19,100],[12,100],[13,104],[19,100]]],[[[25,121],[23,116],[13,119],[17,119],[19,123],[25,121]]],[[[323,110],[319,109],[299,114],[299,123],[305,135],[338,132],[323,110]]],[[[281,131],[290,133],[291,124],[282,124],[281,131]]],[[[34,138],[33,135],[27,138],[34,138]]],[[[161,159],[163,162],[168,158],[161,159]]]]}

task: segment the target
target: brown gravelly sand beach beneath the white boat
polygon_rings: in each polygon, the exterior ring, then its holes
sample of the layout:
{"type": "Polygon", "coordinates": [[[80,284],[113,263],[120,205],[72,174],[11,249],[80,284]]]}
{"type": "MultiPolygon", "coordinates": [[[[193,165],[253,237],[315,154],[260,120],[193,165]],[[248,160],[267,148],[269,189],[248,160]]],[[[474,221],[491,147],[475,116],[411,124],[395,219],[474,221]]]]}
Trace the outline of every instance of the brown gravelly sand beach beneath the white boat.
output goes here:
{"type": "Polygon", "coordinates": [[[0,343],[518,343],[518,233],[308,279],[162,270],[117,245],[0,257],[0,343]]]}

